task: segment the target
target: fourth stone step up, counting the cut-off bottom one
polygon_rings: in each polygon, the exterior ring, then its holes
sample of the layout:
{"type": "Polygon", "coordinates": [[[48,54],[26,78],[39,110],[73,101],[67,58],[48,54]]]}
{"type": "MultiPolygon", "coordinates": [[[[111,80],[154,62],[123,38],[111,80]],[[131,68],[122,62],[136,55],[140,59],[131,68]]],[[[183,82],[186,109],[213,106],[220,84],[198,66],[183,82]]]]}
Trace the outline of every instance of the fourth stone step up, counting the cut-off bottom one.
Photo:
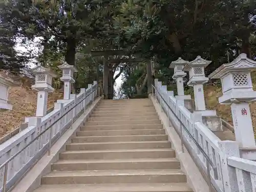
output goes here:
{"type": "Polygon", "coordinates": [[[174,158],[175,151],[162,149],[130,149],[130,150],[97,150],[97,151],[65,151],[59,154],[60,160],[83,159],[125,159],[125,158],[174,158]]]}

